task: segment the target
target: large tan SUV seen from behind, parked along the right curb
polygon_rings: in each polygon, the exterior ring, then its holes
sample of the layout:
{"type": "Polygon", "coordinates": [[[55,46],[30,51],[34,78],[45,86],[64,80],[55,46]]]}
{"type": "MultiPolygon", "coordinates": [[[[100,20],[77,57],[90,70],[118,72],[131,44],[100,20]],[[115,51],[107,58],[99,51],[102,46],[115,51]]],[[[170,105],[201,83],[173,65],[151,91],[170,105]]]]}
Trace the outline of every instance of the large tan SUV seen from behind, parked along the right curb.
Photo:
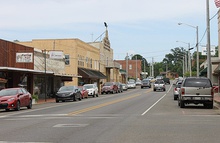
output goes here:
{"type": "Polygon", "coordinates": [[[213,87],[209,78],[188,77],[182,82],[178,97],[178,105],[184,108],[185,104],[203,104],[205,107],[213,108],[213,87]]]}

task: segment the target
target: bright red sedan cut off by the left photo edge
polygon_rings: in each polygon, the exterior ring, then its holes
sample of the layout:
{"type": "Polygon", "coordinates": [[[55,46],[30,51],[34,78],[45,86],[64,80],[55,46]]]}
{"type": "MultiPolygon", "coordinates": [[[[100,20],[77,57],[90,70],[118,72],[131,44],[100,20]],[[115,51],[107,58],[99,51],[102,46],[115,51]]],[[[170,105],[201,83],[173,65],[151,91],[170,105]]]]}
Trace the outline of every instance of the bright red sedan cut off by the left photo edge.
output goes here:
{"type": "Polygon", "coordinates": [[[19,111],[21,107],[32,108],[31,94],[25,88],[6,88],[0,91],[0,109],[19,111]]]}

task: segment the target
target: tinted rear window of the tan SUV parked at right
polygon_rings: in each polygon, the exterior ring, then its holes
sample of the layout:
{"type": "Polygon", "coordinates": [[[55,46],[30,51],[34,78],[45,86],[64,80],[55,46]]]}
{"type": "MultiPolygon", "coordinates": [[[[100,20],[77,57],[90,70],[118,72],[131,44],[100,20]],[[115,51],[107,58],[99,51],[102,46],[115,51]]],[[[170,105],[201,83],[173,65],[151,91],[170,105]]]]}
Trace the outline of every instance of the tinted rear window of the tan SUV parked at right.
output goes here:
{"type": "Polygon", "coordinates": [[[208,79],[186,79],[184,82],[185,87],[205,87],[209,88],[212,87],[210,80],[208,79]]]}

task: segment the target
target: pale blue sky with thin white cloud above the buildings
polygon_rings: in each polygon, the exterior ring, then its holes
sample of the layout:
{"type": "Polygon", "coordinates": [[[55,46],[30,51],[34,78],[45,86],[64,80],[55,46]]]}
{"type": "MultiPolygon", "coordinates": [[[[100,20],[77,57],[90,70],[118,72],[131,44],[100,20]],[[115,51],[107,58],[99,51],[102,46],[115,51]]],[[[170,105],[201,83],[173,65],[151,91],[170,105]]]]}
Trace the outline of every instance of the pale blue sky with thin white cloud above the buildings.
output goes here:
{"type": "MultiPolygon", "coordinates": [[[[140,54],[161,62],[176,47],[207,44],[206,0],[0,0],[0,39],[78,38],[84,42],[108,35],[114,59],[140,54]],[[178,25],[178,23],[183,23],[178,25]],[[188,26],[191,25],[191,26],[188,26]],[[179,41],[179,42],[177,42],[179,41]]],[[[218,8],[209,0],[211,45],[218,44],[218,8]]],[[[196,48],[192,52],[196,51],[196,48]]]]}

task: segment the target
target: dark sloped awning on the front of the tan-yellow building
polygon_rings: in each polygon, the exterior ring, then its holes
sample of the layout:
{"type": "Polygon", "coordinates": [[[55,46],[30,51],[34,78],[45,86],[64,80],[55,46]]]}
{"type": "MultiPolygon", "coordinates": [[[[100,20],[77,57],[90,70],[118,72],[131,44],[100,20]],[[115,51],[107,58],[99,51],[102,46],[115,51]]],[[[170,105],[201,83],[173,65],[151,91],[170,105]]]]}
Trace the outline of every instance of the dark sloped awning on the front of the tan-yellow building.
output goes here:
{"type": "Polygon", "coordinates": [[[106,76],[100,71],[78,68],[78,74],[83,78],[106,79],[106,76]]]}

